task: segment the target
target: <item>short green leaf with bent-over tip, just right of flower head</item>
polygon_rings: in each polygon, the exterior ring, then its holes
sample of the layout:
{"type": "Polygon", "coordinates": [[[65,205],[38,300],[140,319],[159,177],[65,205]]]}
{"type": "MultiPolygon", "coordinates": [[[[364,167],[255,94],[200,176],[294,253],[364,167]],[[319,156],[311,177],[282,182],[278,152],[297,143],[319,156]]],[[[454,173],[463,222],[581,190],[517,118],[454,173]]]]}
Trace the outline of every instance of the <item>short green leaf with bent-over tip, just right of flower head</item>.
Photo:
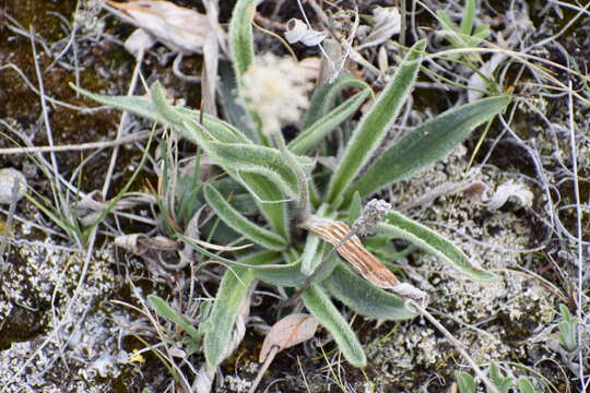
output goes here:
{"type": "Polygon", "coordinates": [[[324,117],[332,107],[335,97],[344,88],[356,87],[363,92],[367,91],[371,93],[370,86],[351,74],[342,74],[332,83],[324,83],[314,92],[309,107],[305,111],[302,118],[302,129],[307,130],[315,122],[324,117]]]}

